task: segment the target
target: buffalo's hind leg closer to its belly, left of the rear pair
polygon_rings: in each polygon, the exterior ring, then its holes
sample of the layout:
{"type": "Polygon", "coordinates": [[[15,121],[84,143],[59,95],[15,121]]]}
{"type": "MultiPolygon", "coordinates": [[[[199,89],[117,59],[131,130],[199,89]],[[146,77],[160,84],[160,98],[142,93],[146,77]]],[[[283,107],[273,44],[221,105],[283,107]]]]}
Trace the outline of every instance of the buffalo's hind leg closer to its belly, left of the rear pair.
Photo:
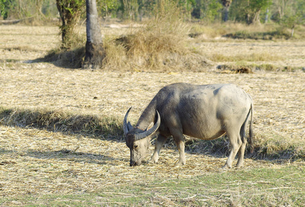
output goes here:
{"type": "Polygon", "coordinates": [[[232,168],[233,160],[235,159],[239,148],[242,146],[242,139],[240,139],[239,133],[227,132],[227,135],[230,141],[231,151],[226,161],[226,164],[222,168],[232,168]]]}

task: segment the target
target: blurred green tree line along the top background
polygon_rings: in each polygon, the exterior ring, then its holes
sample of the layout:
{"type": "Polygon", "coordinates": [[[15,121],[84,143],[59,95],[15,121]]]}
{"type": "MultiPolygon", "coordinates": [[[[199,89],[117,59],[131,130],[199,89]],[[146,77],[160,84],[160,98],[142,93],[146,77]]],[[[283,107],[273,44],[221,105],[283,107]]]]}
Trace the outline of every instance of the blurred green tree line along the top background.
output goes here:
{"type": "MultiPolygon", "coordinates": [[[[153,17],[163,0],[97,0],[99,17],[141,21],[153,17]]],[[[186,19],[204,22],[234,21],[243,23],[304,23],[304,0],[171,0],[186,19]]],[[[80,17],[86,16],[85,0],[0,0],[1,19],[59,17],[58,5],[80,17]]]]}

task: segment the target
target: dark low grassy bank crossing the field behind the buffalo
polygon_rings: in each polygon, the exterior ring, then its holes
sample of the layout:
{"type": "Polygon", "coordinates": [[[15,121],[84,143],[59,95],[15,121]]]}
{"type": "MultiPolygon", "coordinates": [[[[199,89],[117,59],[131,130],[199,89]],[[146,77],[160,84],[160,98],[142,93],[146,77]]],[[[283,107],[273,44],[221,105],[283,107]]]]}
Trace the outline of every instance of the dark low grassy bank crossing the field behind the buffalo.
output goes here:
{"type": "MultiPolygon", "coordinates": [[[[66,135],[79,134],[92,139],[104,139],[118,142],[125,141],[122,120],[107,115],[75,115],[64,111],[26,110],[0,107],[0,124],[21,128],[44,129],[52,132],[61,132],[66,135]]],[[[168,139],[165,148],[175,149],[174,143],[175,141],[173,141],[173,138],[168,139]]],[[[228,156],[229,151],[230,144],[228,143],[226,136],[211,141],[190,139],[189,137],[186,139],[186,152],[191,154],[199,153],[215,157],[224,157],[228,156]]],[[[65,154],[70,155],[71,152],[71,150],[61,150],[52,153],[62,156],[65,154]]],[[[295,157],[293,150],[291,149],[277,151],[272,155],[269,155],[266,146],[255,146],[252,153],[250,152],[250,146],[247,146],[246,157],[252,159],[287,159],[290,161],[300,159],[300,157],[295,157]]]]}

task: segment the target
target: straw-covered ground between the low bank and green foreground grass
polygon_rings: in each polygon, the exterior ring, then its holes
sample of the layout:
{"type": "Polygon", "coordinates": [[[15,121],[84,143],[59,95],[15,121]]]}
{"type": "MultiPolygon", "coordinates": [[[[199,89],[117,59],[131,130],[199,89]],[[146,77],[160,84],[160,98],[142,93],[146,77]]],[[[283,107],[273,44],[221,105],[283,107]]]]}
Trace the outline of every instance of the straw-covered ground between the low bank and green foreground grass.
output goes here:
{"type": "MultiPolygon", "coordinates": [[[[159,164],[130,168],[129,150],[124,142],[34,128],[0,128],[3,197],[104,192],[105,188],[135,181],[135,175],[139,181],[190,179],[223,172],[219,167],[226,161],[197,152],[186,154],[188,164],[175,168],[178,152],[167,149],[162,150],[159,164]]],[[[244,169],[263,167],[283,166],[245,160],[244,169]]]]}

